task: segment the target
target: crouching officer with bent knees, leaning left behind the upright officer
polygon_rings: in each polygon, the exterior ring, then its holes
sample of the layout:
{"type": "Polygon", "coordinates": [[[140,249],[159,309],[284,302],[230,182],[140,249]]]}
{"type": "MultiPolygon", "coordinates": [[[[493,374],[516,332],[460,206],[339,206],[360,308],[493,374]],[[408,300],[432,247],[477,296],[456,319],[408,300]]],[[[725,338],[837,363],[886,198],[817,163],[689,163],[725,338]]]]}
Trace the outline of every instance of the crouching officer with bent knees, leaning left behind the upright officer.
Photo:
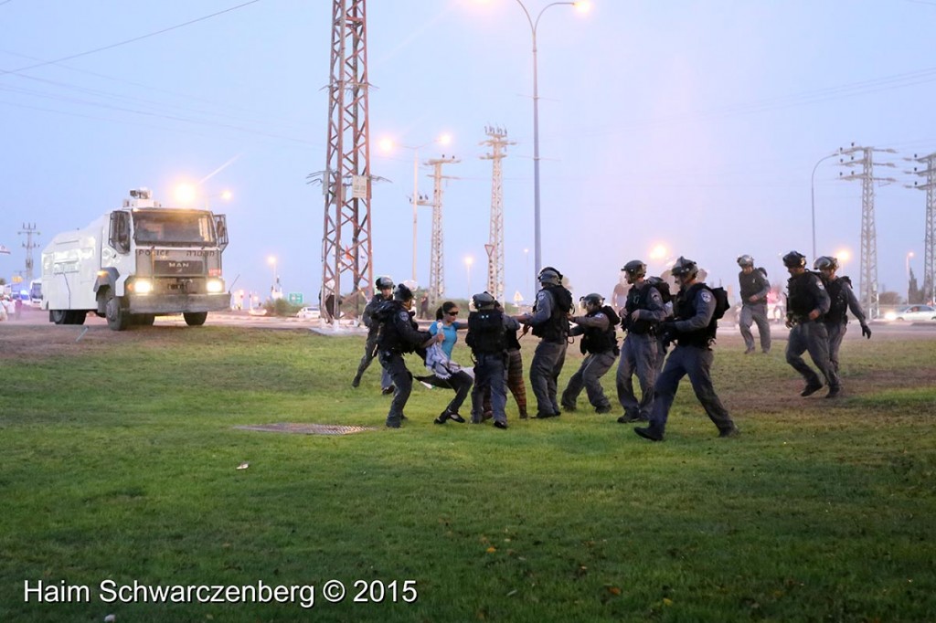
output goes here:
{"type": "Polygon", "coordinates": [[[588,394],[595,413],[610,413],[611,403],[601,386],[601,377],[614,365],[618,353],[617,326],[621,322],[618,314],[605,305],[605,298],[599,294],[590,294],[581,298],[585,308],[584,316],[573,316],[570,320],[576,324],[570,336],[582,336],[579,347],[585,358],[578,371],[569,379],[563,391],[563,409],[576,410],[576,400],[582,388],[588,394]]]}

